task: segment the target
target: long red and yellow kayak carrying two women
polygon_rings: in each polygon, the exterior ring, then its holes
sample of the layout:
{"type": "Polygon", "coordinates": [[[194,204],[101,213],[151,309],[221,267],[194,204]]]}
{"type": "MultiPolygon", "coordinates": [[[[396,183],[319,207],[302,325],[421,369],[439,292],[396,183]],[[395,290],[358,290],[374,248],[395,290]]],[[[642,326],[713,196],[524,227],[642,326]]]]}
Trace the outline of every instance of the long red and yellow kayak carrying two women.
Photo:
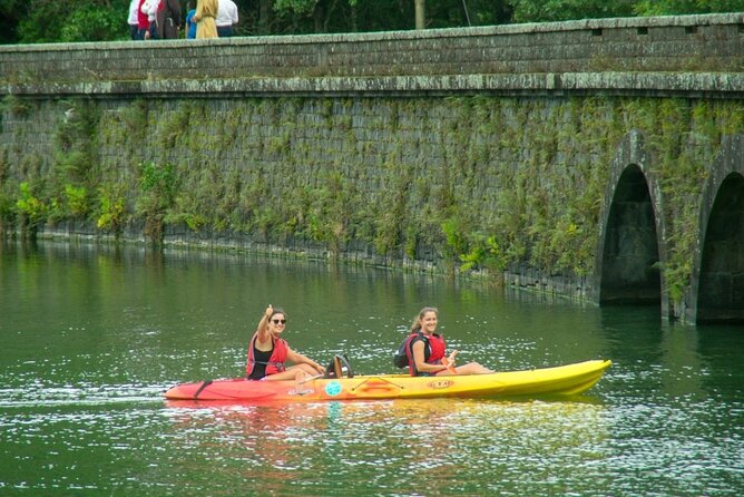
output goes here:
{"type": "Polygon", "coordinates": [[[590,389],[611,361],[488,374],[411,377],[370,374],[310,378],[306,381],[244,378],[182,383],[165,392],[169,400],[235,402],[430,399],[435,397],[499,398],[576,396],[590,389]]]}

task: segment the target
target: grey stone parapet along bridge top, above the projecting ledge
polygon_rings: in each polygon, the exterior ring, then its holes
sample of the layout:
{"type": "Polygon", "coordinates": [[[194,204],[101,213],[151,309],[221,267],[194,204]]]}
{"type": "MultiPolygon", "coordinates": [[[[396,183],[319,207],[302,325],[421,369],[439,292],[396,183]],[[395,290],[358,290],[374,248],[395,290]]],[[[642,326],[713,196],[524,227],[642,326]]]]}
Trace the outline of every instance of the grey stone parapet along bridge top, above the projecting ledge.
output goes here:
{"type": "MultiPolygon", "coordinates": [[[[566,72],[740,72],[742,14],[429,31],[0,47],[0,80],[337,78],[566,72]]],[[[19,88],[20,89],[20,88],[19,88]]]]}

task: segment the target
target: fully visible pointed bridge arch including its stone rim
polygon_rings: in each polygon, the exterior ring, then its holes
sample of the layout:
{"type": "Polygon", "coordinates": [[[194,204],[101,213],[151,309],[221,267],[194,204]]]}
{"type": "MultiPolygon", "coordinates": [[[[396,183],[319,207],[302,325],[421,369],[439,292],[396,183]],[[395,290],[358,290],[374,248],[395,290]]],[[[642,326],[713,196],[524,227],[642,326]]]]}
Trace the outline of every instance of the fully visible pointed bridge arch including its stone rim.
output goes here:
{"type": "Polygon", "coordinates": [[[633,130],[610,165],[601,213],[595,271],[595,300],[606,304],[659,305],[670,318],[660,267],[666,261],[663,198],[649,172],[643,135],[633,130]]]}

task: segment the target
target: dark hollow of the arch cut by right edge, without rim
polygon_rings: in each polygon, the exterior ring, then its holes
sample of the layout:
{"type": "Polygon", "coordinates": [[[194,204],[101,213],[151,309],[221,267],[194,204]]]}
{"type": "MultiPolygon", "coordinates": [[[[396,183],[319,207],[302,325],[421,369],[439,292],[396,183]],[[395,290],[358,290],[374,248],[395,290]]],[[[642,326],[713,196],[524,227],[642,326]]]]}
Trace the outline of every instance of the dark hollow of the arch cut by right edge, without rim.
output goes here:
{"type": "Polygon", "coordinates": [[[744,176],[721,184],[705,231],[697,322],[744,323],[744,176]]]}

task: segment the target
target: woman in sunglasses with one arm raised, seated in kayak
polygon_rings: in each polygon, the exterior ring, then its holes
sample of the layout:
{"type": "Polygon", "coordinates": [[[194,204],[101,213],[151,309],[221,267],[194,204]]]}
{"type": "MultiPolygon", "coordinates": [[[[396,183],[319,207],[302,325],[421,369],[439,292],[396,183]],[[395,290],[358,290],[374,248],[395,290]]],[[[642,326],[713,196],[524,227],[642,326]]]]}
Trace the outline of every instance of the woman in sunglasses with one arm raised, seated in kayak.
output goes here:
{"type": "Polygon", "coordinates": [[[258,322],[258,329],[248,343],[246,373],[249,380],[296,380],[323,374],[325,369],[312,359],[290,349],[280,338],[286,325],[286,314],[272,305],[258,322]],[[286,368],[286,361],[294,366],[286,368]]]}

